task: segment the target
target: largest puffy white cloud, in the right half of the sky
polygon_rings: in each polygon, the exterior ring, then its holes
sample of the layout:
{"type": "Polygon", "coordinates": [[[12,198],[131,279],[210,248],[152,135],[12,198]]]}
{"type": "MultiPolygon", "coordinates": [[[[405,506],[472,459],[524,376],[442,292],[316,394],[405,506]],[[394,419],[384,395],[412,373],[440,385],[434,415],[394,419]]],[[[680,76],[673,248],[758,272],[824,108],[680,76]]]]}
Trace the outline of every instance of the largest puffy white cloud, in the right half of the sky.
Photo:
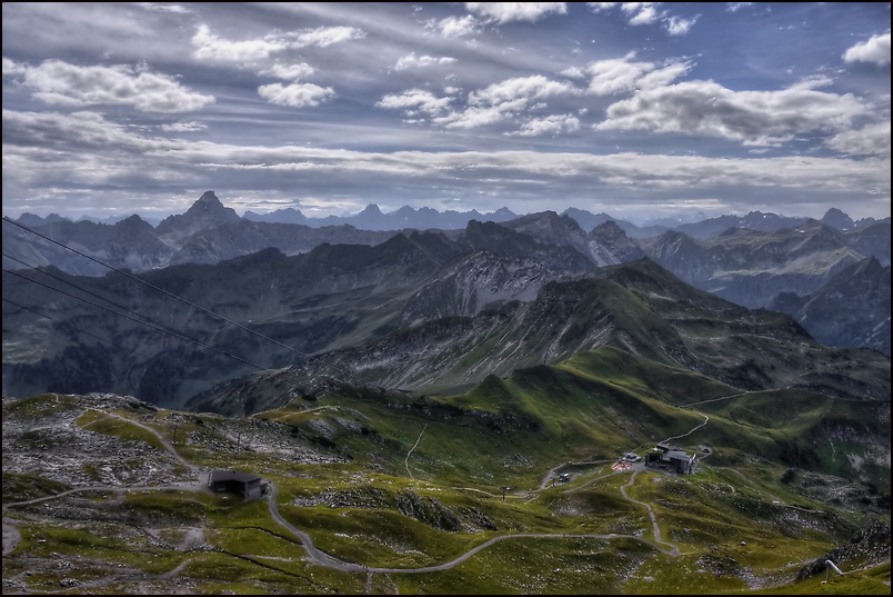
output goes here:
{"type": "Polygon", "coordinates": [[[864,115],[862,101],[801,83],[781,91],[732,91],[713,81],[642,90],[608,108],[595,130],[708,135],[746,146],[777,146],[796,135],[844,129],[864,115]]]}

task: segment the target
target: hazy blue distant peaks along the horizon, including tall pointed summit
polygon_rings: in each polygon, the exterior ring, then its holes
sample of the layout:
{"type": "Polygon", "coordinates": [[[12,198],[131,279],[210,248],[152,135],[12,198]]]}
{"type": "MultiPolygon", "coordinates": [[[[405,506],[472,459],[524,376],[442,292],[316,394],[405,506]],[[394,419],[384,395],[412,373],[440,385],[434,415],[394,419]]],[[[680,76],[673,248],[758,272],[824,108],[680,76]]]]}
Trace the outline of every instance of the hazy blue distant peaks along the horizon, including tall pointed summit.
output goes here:
{"type": "MultiPolygon", "coordinates": [[[[273,212],[269,219],[287,220],[288,213],[273,212]]],[[[73,275],[103,276],[109,268],[102,263],[107,263],[143,272],[172,265],[213,265],[267,248],[293,256],[307,253],[321,245],[374,247],[395,235],[411,236],[413,231],[424,229],[453,241],[466,235],[472,226],[489,222],[524,235],[528,241],[532,239],[544,247],[540,253],[555,247],[574,251],[571,260],[579,261],[582,257],[588,267],[616,265],[648,256],[689,283],[741,306],[783,308],[809,331],[820,335],[823,332],[819,331],[817,318],[805,317],[799,307],[784,307],[791,304],[791,296],[807,300],[834,276],[864,259],[874,258],[881,268],[890,267],[890,218],[880,221],[866,218],[854,222],[837,209],[829,210],[822,220],[751,212],[744,217],[722,216],[680,223],[673,230],[664,226],[639,228],[613,220],[605,213],[593,215],[580,209],[569,209],[562,215],[546,211],[521,217],[502,209],[488,215],[490,219],[485,221],[469,219],[475,213],[440,213],[429,208],[413,210],[407,207],[384,215],[377,206],[369,206],[349,219],[324,219],[327,222],[352,221],[353,225],[320,226],[319,219],[312,226],[254,221],[239,217],[234,210],[224,207],[213,191],[208,191],[187,212],[170,216],[155,227],[136,215],[114,225],[87,220],[71,222],[58,216],[43,219],[32,215],[24,215],[17,222],[4,220],[3,267],[19,270],[52,266],[73,275]],[[452,228],[460,222],[464,222],[464,229],[452,228]],[[405,228],[397,228],[404,225],[405,228]],[[443,229],[428,225],[442,226],[443,229]],[[391,229],[383,229],[388,227],[391,229]],[[645,232],[651,236],[643,236],[645,232]]],[[[482,241],[481,238],[476,240],[482,241]]],[[[581,268],[585,266],[579,262],[571,267],[575,271],[582,271],[581,268]]],[[[877,273],[866,268],[853,271],[857,278],[877,273]]],[[[880,273],[875,283],[883,287],[883,271],[880,273]]],[[[867,288],[871,283],[856,281],[854,287],[867,288]]],[[[531,298],[536,289],[536,286],[530,287],[523,296],[531,298]]],[[[884,325],[890,326],[890,310],[879,302],[879,296],[883,292],[864,300],[850,297],[851,305],[860,305],[856,311],[866,311],[862,319],[874,321],[872,329],[880,326],[877,332],[862,330],[863,325],[860,331],[842,331],[835,336],[824,334],[822,338],[835,346],[867,346],[889,355],[890,341],[883,330],[884,325]]],[[[826,309],[822,317],[834,321],[839,312],[826,309]]],[[[849,329],[844,324],[833,324],[832,327],[849,329]]]]}

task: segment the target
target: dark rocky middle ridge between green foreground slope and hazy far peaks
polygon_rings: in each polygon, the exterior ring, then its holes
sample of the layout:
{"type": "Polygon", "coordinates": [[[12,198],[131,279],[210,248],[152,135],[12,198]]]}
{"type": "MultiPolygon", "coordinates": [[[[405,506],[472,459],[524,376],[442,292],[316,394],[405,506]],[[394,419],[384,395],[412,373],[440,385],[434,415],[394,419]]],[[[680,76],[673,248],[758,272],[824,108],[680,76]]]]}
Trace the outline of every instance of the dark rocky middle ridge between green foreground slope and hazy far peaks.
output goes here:
{"type": "MultiPolygon", "coordinates": [[[[213,207],[209,199],[203,202],[213,207]]],[[[169,219],[163,238],[199,230],[207,207],[169,219]]],[[[190,238],[244,222],[217,210],[220,220],[190,238]]],[[[889,380],[879,385],[824,365],[845,352],[804,352],[824,349],[786,316],[699,291],[660,266],[671,259],[678,269],[692,262],[703,269],[702,252],[710,250],[743,260],[747,243],[740,239],[753,238],[766,260],[782,260],[766,235],[735,231],[710,246],[679,232],[672,239],[686,243],[673,245],[669,235],[643,245],[643,257],[614,223],[586,233],[568,216],[543,212],[503,223],[472,220],[449,233],[398,232],[372,246],[322,243],[292,256],[269,248],[214,265],[153,269],[139,279],[124,270],[103,277],[19,270],[3,277],[3,296],[16,301],[4,305],[3,389],[102,390],[181,406],[227,379],[297,364],[308,367],[299,377],[309,380],[337,367],[363,382],[446,391],[610,344],[749,389],[792,384],[790,367],[803,379],[817,376],[835,396],[889,390],[889,380]],[[679,307],[693,305],[706,311],[679,307]],[[754,344],[761,335],[772,340],[754,344]],[[767,372],[783,362],[789,367],[767,372]],[[804,372],[810,367],[819,370],[804,372]]],[[[823,263],[827,255],[856,259],[849,247],[841,250],[845,237],[821,222],[775,235],[782,236],[772,241],[784,245],[793,263],[814,256],[823,263]]],[[[753,259],[765,267],[760,255],[753,259]]],[[[813,269],[784,279],[817,290],[815,280],[833,267],[813,269]]],[[[889,351],[889,340],[881,348],[889,351]]],[[[889,357],[860,355],[856,362],[869,365],[856,369],[889,369],[889,357]]]]}

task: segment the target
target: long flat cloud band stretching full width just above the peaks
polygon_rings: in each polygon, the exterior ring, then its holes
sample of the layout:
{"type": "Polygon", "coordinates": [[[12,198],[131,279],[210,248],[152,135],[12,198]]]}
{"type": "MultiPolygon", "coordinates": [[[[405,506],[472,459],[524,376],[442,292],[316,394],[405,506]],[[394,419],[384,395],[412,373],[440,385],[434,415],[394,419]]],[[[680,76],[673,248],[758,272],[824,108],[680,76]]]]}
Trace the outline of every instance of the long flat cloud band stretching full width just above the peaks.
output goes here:
{"type": "MultiPolygon", "coordinates": [[[[565,122],[572,126],[572,121],[565,122]]],[[[869,192],[889,193],[891,177],[890,159],[872,157],[734,159],[633,152],[365,152],[152,139],[92,112],[3,110],[3,137],[4,189],[48,199],[81,192],[91,200],[113,200],[121,209],[134,210],[144,209],[142,188],[149,182],[157,197],[179,193],[182,205],[188,207],[194,197],[184,196],[183,189],[201,192],[225,187],[232,189],[229,196],[239,189],[264,190],[270,195],[298,185],[305,187],[309,195],[314,189],[323,192],[319,186],[323,172],[329,175],[324,177],[327,197],[355,197],[365,202],[375,192],[409,198],[432,186],[466,193],[469,189],[479,189],[482,180],[491,187],[498,185],[502,197],[530,196],[531,182],[535,182],[548,186],[553,197],[562,193],[569,202],[591,198],[593,189],[625,198],[631,198],[629,190],[634,189],[635,201],[642,203],[653,203],[661,197],[696,197],[699,192],[716,196],[744,191],[765,197],[767,190],[787,198],[800,193],[810,201],[820,196],[840,201],[841,197],[869,192]],[[492,183],[494,180],[499,182],[492,183]],[[132,191],[133,181],[143,187],[132,191]],[[123,207],[126,197],[132,200],[127,206],[132,207],[123,207]]],[[[4,208],[10,209],[6,199],[4,208]]]]}

